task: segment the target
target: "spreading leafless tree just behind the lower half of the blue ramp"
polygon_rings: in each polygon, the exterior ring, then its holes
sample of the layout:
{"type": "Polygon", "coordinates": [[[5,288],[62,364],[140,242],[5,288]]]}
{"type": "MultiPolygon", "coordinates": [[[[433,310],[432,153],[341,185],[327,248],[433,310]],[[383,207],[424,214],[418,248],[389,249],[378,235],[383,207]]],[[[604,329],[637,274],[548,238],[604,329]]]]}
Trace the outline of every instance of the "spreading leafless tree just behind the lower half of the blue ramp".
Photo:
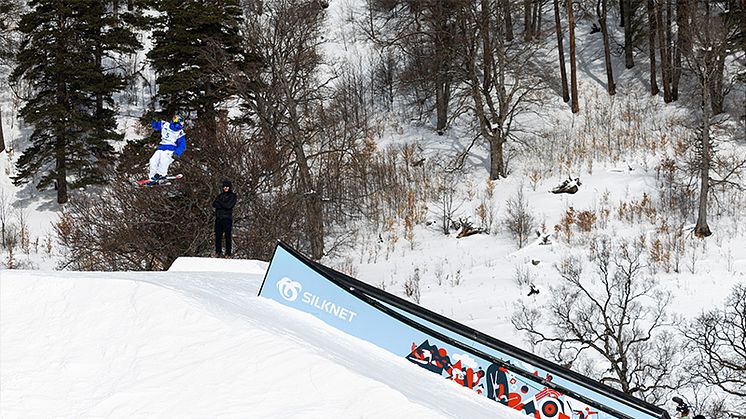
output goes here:
{"type": "Polygon", "coordinates": [[[587,351],[608,368],[596,379],[627,394],[659,401],[679,362],[675,340],[666,333],[673,322],[666,313],[671,301],[653,278],[646,277],[640,243],[608,238],[593,242],[590,262],[567,258],[557,267],[562,284],[544,310],[522,304],[512,322],[533,344],[548,345],[558,362],[572,366],[587,351]]]}

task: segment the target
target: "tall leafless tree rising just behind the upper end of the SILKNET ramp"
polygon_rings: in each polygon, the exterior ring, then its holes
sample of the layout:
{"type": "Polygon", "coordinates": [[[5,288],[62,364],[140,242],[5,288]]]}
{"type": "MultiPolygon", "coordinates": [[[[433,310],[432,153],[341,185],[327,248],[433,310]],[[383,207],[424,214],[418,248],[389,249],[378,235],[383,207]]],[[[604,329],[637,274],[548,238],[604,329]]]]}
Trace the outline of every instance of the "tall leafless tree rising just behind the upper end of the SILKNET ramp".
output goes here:
{"type": "Polygon", "coordinates": [[[281,170],[289,174],[287,179],[304,208],[311,256],[320,259],[324,255],[325,191],[315,165],[328,152],[320,147],[318,115],[330,82],[319,74],[324,10],[316,2],[276,0],[265,2],[263,11],[247,19],[251,40],[247,48],[264,60],[257,89],[247,103],[257,117],[258,134],[284,155],[281,170]]]}

